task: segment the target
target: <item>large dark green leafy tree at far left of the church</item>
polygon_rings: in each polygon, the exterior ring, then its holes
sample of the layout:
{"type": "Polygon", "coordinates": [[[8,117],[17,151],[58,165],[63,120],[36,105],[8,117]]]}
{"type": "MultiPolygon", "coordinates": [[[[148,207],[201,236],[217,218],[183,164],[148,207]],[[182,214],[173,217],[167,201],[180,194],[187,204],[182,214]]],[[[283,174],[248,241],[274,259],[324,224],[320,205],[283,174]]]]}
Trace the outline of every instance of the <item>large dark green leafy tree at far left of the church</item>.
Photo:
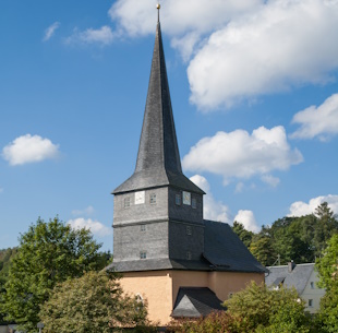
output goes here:
{"type": "Polygon", "coordinates": [[[0,312],[27,332],[35,332],[49,290],[69,277],[102,269],[107,258],[98,252],[100,245],[89,230],[72,229],[58,217],[48,223],[38,218],[19,241],[0,312]]]}

